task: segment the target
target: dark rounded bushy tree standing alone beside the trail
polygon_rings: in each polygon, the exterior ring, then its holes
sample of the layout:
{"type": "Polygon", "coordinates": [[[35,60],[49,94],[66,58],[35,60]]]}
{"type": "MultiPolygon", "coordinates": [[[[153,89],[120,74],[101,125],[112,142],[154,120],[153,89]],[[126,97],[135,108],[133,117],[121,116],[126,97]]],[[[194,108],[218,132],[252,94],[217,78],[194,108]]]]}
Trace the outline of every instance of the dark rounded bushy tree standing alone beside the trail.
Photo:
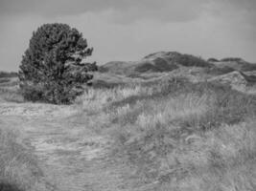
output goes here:
{"type": "Polygon", "coordinates": [[[93,78],[96,63],[82,63],[91,55],[81,32],[66,24],[44,24],[33,32],[22,57],[19,79],[27,100],[70,103],[93,78]]]}

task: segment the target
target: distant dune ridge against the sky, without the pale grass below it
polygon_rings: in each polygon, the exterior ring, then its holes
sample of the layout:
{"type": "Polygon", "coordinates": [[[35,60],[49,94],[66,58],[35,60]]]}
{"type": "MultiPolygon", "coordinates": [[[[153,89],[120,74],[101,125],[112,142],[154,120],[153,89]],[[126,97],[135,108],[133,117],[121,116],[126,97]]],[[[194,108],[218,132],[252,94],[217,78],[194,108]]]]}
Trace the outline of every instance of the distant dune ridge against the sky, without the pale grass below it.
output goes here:
{"type": "Polygon", "coordinates": [[[209,58],[207,61],[191,54],[177,52],[151,53],[139,61],[111,61],[99,67],[101,73],[121,74],[130,77],[142,74],[170,73],[183,68],[200,68],[204,74],[220,75],[234,71],[251,73],[256,64],[242,58],[227,57],[221,60],[209,58]]]}

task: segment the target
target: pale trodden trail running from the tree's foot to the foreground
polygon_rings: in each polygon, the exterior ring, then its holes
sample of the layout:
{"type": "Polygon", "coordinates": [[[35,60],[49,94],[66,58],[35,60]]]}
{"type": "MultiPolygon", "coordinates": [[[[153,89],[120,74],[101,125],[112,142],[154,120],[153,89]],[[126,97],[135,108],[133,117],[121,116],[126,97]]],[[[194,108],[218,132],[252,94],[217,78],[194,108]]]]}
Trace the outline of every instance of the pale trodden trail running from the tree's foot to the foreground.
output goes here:
{"type": "Polygon", "coordinates": [[[122,178],[125,165],[108,156],[110,138],[76,122],[72,119],[76,113],[72,106],[0,105],[0,120],[25,133],[26,144],[33,148],[45,179],[53,185],[49,190],[134,190],[122,178]]]}

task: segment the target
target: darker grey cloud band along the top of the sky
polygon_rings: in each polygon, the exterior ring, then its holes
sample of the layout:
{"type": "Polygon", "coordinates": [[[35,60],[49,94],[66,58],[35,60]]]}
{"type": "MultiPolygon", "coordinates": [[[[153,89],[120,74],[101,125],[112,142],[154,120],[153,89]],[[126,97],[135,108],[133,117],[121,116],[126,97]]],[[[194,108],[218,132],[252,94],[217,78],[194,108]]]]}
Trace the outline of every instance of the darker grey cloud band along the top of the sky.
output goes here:
{"type": "Polygon", "coordinates": [[[53,18],[112,11],[112,20],[119,23],[141,19],[186,22],[204,12],[219,16],[245,12],[247,18],[251,18],[255,16],[255,9],[255,0],[0,0],[0,15],[33,14],[53,18]]]}

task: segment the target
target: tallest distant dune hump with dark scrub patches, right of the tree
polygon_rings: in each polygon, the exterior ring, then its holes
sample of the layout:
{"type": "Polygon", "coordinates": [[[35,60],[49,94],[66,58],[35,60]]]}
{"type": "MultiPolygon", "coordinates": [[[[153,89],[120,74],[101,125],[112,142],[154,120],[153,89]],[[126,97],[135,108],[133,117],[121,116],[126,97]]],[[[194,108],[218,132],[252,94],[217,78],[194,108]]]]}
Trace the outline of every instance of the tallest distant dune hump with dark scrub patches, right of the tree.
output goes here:
{"type": "Polygon", "coordinates": [[[211,67],[212,64],[190,54],[176,52],[151,53],[139,61],[108,62],[99,68],[100,72],[135,75],[141,73],[171,72],[180,67],[211,67]]]}

